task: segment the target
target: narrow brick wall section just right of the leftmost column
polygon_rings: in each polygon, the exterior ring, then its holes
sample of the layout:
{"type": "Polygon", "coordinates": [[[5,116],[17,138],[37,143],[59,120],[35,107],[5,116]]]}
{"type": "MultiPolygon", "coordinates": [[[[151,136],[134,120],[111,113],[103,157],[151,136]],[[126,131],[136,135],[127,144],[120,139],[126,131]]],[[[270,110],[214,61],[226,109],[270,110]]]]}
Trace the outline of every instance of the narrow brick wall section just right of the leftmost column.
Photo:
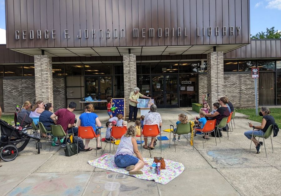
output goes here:
{"type": "Polygon", "coordinates": [[[65,108],[65,79],[64,77],[53,77],[54,111],[65,108]]]}

